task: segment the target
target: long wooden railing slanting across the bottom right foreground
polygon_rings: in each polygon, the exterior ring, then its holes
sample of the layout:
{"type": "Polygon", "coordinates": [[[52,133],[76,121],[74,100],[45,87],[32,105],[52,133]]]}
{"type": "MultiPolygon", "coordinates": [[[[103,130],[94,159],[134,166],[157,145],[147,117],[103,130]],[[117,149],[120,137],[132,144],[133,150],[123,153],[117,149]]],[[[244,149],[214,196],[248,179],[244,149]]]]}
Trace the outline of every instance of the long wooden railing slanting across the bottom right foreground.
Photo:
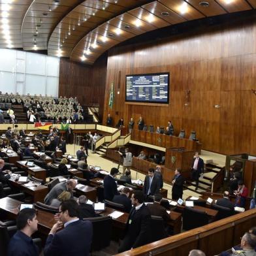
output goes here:
{"type": "Polygon", "coordinates": [[[255,225],[256,209],[252,209],[117,255],[189,255],[191,249],[200,249],[214,256],[240,244],[240,236],[255,225]]]}

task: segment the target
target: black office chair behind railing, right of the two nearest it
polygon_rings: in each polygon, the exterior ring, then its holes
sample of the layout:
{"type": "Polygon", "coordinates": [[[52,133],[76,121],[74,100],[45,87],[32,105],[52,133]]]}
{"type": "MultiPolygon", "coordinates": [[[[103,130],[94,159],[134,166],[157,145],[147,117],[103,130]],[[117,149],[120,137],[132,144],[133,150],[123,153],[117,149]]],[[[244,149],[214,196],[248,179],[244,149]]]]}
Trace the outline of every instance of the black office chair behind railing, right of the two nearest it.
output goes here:
{"type": "Polygon", "coordinates": [[[196,210],[190,207],[185,207],[183,214],[183,229],[189,231],[197,227],[202,227],[208,224],[208,216],[206,212],[196,210]]]}

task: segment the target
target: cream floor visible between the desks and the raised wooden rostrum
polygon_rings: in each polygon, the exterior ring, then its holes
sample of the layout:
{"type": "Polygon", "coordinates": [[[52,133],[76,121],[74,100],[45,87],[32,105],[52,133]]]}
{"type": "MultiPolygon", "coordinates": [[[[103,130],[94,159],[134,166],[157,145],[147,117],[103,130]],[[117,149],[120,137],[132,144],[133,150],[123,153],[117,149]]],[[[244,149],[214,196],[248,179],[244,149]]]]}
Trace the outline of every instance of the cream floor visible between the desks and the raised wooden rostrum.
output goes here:
{"type": "MultiPolygon", "coordinates": [[[[76,151],[79,148],[80,148],[79,146],[74,146],[73,144],[67,144],[67,153],[71,155],[76,155],[76,151]]],[[[219,167],[225,166],[225,161],[226,161],[225,155],[202,150],[200,157],[204,159],[204,162],[212,160],[213,163],[215,163],[219,167]]],[[[107,171],[110,171],[112,167],[118,167],[117,163],[114,163],[108,159],[105,159],[104,157],[101,157],[101,155],[97,153],[92,153],[91,150],[89,150],[89,157],[87,160],[88,160],[88,165],[96,165],[98,167],[101,167],[103,170],[107,170],[107,171]]],[[[122,172],[122,167],[120,167],[120,172],[122,172]]],[[[132,180],[140,179],[144,181],[145,175],[131,169],[131,178],[132,180]]],[[[172,186],[164,183],[163,187],[168,190],[168,198],[171,198],[172,186]]],[[[199,197],[200,194],[195,193],[189,189],[185,189],[183,194],[183,199],[186,199],[189,196],[199,197]]]]}

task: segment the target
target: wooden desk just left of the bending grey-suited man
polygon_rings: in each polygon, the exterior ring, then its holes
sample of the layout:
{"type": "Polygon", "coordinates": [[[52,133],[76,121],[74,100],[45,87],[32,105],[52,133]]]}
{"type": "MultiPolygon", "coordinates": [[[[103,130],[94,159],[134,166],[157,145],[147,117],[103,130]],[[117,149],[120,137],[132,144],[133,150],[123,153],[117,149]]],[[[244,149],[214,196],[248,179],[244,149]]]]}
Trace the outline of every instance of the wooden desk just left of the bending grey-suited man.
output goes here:
{"type": "Polygon", "coordinates": [[[24,182],[16,182],[14,180],[9,180],[10,185],[20,189],[20,191],[31,195],[33,202],[44,202],[44,197],[47,195],[49,189],[45,185],[29,186],[26,187],[24,182]]]}

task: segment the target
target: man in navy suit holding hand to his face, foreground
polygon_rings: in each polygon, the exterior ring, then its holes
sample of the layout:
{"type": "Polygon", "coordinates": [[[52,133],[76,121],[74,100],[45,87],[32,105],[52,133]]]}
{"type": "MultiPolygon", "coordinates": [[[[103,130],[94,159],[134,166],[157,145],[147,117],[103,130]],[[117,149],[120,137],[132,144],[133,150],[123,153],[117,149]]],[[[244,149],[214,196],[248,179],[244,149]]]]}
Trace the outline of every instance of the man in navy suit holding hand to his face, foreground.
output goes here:
{"type": "Polygon", "coordinates": [[[93,238],[91,221],[81,221],[78,203],[65,200],[59,206],[59,221],[52,227],[44,246],[44,256],[88,256],[93,238]],[[64,224],[64,229],[61,227],[64,224]],[[58,231],[58,232],[57,232],[58,231]]]}

